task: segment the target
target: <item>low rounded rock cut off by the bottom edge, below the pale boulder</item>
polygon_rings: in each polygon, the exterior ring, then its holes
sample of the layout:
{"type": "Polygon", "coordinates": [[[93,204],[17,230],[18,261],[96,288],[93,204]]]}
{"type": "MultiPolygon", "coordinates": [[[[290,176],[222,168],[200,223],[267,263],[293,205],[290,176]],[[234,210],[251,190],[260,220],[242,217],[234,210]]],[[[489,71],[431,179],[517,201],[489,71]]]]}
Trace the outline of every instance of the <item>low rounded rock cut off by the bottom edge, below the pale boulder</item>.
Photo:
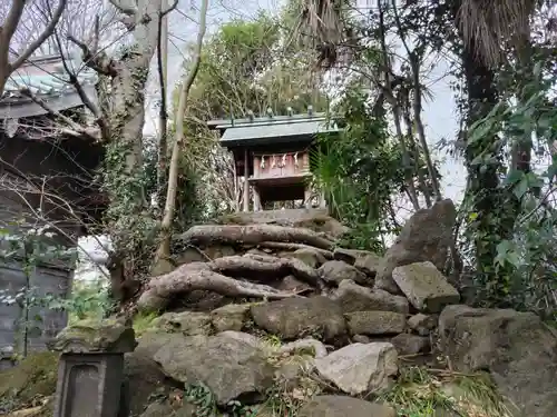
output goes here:
{"type": "Polygon", "coordinates": [[[389,406],[338,395],[322,395],[304,404],[299,417],[395,417],[389,406]]]}

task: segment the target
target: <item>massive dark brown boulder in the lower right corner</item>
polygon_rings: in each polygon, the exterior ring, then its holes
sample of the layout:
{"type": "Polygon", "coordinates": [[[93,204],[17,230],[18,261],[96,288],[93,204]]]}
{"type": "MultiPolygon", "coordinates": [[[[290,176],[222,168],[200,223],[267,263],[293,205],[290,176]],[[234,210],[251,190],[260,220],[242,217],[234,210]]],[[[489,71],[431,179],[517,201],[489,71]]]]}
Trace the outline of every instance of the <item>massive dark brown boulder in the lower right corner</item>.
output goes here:
{"type": "Polygon", "coordinates": [[[557,337],[531,312],[449,306],[439,317],[441,348],[456,370],[489,370],[517,415],[555,416],[557,337]]]}

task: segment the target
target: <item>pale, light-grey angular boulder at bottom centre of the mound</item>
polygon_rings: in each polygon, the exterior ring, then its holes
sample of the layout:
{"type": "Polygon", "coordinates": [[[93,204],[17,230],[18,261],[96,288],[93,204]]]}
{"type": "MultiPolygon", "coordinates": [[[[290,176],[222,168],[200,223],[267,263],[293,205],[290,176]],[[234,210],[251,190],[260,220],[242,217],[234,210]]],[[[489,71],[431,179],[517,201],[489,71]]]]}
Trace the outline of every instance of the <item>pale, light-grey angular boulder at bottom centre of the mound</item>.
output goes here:
{"type": "Polygon", "coordinates": [[[353,344],[315,359],[323,378],[344,393],[379,393],[389,387],[398,368],[394,346],[388,342],[353,344]]]}

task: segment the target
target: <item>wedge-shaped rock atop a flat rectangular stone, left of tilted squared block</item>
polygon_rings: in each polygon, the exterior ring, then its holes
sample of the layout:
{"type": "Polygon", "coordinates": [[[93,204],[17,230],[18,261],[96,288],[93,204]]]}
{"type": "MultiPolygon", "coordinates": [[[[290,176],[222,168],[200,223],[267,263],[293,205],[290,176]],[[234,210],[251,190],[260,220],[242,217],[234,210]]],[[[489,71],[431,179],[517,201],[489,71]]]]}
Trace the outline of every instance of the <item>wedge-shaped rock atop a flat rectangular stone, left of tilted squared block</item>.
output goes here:
{"type": "Polygon", "coordinates": [[[370,289],[354,281],[343,280],[332,295],[343,312],[353,311],[395,311],[408,314],[405,297],[393,296],[382,289],[370,289]]]}

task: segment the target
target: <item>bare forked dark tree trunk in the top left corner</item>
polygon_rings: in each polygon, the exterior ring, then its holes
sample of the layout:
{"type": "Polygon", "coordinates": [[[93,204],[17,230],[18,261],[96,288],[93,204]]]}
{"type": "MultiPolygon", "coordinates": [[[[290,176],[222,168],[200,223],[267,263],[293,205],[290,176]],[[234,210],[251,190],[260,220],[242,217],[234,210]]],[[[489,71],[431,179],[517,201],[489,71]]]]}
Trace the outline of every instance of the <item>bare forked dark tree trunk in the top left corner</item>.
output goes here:
{"type": "Polygon", "coordinates": [[[6,82],[10,75],[23,64],[25,61],[33,54],[33,52],[55,32],[56,26],[62,16],[67,0],[59,0],[50,22],[47,24],[42,33],[32,41],[29,47],[21,53],[16,61],[10,62],[10,42],[16,33],[18,24],[23,14],[26,0],[12,0],[10,11],[6,20],[0,26],[0,97],[3,95],[6,82]]]}

